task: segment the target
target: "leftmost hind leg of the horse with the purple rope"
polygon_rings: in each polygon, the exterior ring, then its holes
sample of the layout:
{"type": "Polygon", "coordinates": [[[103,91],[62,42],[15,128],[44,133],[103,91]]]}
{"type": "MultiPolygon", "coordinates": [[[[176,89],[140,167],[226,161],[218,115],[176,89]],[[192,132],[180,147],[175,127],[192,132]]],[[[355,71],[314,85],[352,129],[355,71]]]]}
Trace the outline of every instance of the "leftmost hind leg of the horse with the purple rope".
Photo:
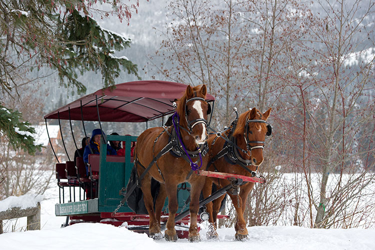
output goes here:
{"type": "Polygon", "coordinates": [[[160,239],[162,238],[160,225],[157,223],[155,212],[153,210],[153,198],[151,195],[151,176],[149,174],[147,175],[140,181],[140,188],[143,192],[144,205],[149,215],[149,236],[153,239],[160,239]]]}

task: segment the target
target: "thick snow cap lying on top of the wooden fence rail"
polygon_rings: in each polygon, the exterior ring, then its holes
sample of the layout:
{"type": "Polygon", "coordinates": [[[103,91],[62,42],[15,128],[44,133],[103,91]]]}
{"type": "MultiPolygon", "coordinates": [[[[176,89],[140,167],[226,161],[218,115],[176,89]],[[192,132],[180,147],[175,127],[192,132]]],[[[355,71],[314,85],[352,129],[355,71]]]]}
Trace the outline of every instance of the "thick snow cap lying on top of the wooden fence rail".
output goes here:
{"type": "Polygon", "coordinates": [[[24,194],[22,196],[9,196],[6,199],[0,200],[0,211],[6,211],[12,207],[20,207],[25,209],[28,207],[37,206],[37,202],[43,200],[43,195],[24,194]]]}

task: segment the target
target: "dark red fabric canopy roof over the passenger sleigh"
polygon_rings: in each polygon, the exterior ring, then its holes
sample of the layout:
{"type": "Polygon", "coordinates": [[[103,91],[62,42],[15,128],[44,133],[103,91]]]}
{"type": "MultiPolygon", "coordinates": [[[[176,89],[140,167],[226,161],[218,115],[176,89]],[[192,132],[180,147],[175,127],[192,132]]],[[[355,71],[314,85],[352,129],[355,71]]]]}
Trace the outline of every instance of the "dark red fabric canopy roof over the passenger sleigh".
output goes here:
{"type": "MultiPolygon", "coordinates": [[[[87,94],[44,116],[45,119],[140,122],[152,120],[173,112],[172,101],[181,97],[187,85],[160,80],[130,81],[87,94]]],[[[215,98],[207,94],[207,101],[215,98]]]]}

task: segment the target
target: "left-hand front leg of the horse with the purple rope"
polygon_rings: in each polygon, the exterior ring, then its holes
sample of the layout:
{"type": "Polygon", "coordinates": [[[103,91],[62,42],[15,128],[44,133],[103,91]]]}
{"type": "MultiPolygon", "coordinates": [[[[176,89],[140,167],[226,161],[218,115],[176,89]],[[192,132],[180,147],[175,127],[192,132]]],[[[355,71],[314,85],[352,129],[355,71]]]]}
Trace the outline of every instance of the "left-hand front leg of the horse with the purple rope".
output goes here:
{"type": "Polygon", "coordinates": [[[176,241],[177,233],[174,229],[174,217],[176,215],[178,204],[177,204],[177,183],[165,182],[165,190],[168,195],[168,220],[166,221],[166,230],[164,232],[165,240],[176,241]]]}

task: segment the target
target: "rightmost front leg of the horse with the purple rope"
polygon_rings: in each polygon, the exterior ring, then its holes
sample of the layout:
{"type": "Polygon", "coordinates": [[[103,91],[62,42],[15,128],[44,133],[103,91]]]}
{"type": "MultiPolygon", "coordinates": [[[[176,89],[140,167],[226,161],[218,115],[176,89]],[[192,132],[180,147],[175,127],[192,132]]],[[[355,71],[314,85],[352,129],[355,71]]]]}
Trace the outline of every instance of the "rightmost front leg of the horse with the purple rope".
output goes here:
{"type": "Polygon", "coordinates": [[[199,176],[194,179],[194,181],[190,182],[191,189],[190,189],[190,228],[189,228],[189,237],[188,240],[190,242],[197,242],[200,241],[200,235],[198,232],[196,220],[197,214],[199,210],[199,196],[200,192],[204,185],[204,176],[199,176]]]}

